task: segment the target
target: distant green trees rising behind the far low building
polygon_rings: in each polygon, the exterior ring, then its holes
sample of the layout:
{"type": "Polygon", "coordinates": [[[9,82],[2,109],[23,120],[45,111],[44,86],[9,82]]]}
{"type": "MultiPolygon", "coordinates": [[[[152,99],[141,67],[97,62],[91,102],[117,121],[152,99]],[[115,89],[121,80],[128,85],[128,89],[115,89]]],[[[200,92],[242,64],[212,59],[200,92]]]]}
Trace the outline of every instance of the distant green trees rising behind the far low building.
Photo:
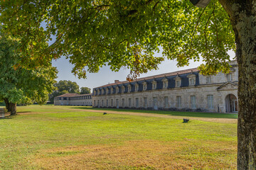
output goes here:
{"type": "Polygon", "coordinates": [[[78,84],[74,81],[70,80],[60,80],[57,83],[53,84],[55,86],[55,91],[52,94],[49,94],[50,103],[54,102],[54,98],[56,96],[60,96],[63,94],[90,94],[91,89],[88,87],[79,88],[78,84]]]}

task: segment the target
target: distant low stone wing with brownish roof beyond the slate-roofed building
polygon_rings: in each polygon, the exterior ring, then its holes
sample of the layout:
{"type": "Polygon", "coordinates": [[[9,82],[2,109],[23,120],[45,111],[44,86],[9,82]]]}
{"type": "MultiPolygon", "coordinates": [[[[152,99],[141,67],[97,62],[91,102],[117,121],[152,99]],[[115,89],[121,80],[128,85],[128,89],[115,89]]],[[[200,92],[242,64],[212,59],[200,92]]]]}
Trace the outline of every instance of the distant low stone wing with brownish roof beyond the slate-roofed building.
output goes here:
{"type": "Polygon", "coordinates": [[[63,94],[54,98],[54,105],[92,106],[92,94],[63,94]]]}

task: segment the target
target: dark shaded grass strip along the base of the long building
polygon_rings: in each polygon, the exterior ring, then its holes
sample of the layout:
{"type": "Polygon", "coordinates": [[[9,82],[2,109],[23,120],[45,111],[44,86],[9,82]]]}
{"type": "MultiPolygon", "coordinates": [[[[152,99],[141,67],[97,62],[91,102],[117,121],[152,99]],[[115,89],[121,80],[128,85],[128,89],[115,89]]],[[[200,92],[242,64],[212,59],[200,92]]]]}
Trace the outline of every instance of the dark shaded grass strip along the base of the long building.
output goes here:
{"type": "Polygon", "coordinates": [[[73,107],[85,110],[95,111],[119,111],[119,112],[134,112],[134,113],[155,113],[163,115],[176,115],[176,116],[188,116],[198,118],[233,118],[237,119],[237,113],[205,113],[205,112],[185,112],[185,111],[152,111],[152,110],[133,110],[133,109],[120,109],[120,108],[92,108],[92,107],[73,107]]]}

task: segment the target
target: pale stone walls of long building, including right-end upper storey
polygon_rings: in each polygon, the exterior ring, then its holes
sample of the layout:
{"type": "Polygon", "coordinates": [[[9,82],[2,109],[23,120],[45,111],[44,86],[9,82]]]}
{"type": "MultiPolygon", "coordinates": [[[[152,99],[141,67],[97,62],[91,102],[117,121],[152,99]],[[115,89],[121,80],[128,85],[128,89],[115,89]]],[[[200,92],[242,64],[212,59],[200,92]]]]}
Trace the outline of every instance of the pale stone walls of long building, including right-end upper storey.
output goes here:
{"type": "Polygon", "coordinates": [[[227,103],[225,98],[229,94],[233,94],[238,98],[238,66],[235,65],[235,62],[231,64],[233,64],[232,72],[230,72],[232,74],[232,81],[227,81],[227,74],[220,72],[217,75],[211,76],[211,82],[206,84],[206,76],[199,74],[198,86],[96,95],[92,96],[92,106],[226,113],[227,105],[230,105],[230,103],[227,103]],[[208,108],[208,95],[213,95],[213,108],[208,108]],[[181,108],[177,108],[177,96],[181,96],[181,108]],[[191,107],[191,96],[196,96],[196,108],[191,107]],[[165,105],[164,97],[168,97],[167,106],[165,105]],[[122,98],[124,98],[124,106],[122,106],[122,98]],[[131,106],[129,106],[129,98],[132,101],[131,106]],[[139,107],[136,105],[136,98],[139,98],[139,107]],[[144,98],[147,98],[146,107],[144,107],[144,98]],[[157,98],[157,108],[154,107],[153,98],[157,98]],[[106,106],[107,100],[108,106],[106,106]],[[113,100],[113,106],[111,106],[111,100],[113,100]]]}

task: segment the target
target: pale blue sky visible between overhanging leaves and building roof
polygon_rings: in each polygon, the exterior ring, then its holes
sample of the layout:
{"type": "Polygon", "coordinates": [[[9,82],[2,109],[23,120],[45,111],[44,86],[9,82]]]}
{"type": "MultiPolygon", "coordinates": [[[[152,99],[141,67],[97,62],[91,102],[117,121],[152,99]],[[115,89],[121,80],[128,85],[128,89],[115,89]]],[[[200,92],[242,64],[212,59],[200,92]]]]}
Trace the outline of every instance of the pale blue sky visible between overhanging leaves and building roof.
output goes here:
{"type": "MultiPolygon", "coordinates": [[[[230,59],[233,59],[233,57],[235,56],[234,52],[229,52],[229,54],[230,54],[230,59]]],[[[157,55],[161,55],[161,54],[156,54],[156,56],[157,55]]],[[[142,74],[140,77],[148,77],[156,74],[164,74],[167,72],[176,72],[182,69],[195,68],[195,67],[198,67],[202,62],[191,61],[188,67],[177,67],[176,63],[177,62],[174,60],[165,60],[164,62],[159,64],[158,70],[154,70],[146,74],[142,74]]],[[[97,86],[113,83],[114,80],[125,81],[127,75],[129,74],[128,69],[120,69],[119,72],[112,72],[110,70],[110,67],[106,66],[106,67],[102,67],[100,69],[100,72],[97,72],[94,74],[87,73],[87,79],[78,79],[71,73],[71,69],[73,68],[73,65],[70,64],[70,62],[67,59],[65,59],[65,57],[61,57],[58,60],[53,60],[53,66],[57,67],[58,69],[58,79],[56,79],[57,81],[60,81],[60,80],[75,81],[80,87],[87,86],[90,89],[93,89],[94,87],[97,87],[97,86]]]]}

